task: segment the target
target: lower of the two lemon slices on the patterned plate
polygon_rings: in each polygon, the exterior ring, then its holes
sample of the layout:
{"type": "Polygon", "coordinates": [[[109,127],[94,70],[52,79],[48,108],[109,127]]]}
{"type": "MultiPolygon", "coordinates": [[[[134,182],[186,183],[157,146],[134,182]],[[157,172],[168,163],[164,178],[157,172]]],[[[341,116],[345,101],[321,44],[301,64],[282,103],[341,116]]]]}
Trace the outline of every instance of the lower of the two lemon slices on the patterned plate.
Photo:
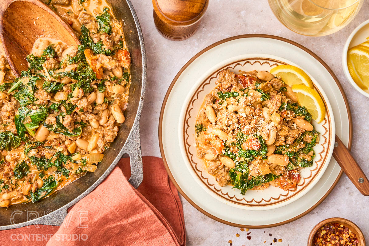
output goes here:
{"type": "Polygon", "coordinates": [[[292,91],[297,96],[299,104],[309,111],[313,119],[318,123],[322,122],[325,117],[325,107],[319,94],[303,84],[293,85],[292,91]]]}

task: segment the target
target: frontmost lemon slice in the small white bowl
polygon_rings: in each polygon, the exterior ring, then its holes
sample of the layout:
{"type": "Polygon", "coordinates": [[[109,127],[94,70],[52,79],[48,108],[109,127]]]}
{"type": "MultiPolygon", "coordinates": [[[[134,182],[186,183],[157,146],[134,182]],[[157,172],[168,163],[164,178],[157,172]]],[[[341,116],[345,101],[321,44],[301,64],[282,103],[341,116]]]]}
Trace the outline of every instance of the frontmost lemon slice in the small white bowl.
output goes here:
{"type": "Polygon", "coordinates": [[[369,49],[355,46],[347,53],[347,65],[350,75],[363,90],[369,88],[369,49]]]}

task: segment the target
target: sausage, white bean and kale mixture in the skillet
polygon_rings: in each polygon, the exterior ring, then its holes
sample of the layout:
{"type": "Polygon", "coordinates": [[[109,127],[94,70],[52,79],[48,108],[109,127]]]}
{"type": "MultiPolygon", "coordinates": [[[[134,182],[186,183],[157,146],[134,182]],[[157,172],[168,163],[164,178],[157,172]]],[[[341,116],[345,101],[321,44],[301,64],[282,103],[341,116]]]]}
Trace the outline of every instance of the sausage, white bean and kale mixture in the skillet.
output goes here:
{"type": "Polygon", "coordinates": [[[95,171],[125,121],[130,53],[105,1],[47,0],[81,45],[39,38],[15,78],[0,57],[0,206],[37,202],[95,171]]]}

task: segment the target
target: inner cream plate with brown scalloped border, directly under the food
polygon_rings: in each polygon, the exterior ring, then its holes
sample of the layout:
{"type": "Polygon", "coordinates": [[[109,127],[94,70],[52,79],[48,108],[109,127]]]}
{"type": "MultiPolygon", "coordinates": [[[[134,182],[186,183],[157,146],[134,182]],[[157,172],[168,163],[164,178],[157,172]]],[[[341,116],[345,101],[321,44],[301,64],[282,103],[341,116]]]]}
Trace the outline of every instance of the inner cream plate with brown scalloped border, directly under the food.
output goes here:
{"type": "MultiPolygon", "coordinates": [[[[225,187],[219,186],[214,176],[206,171],[203,161],[196,155],[196,133],[194,131],[196,117],[205,96],[211,93],[217,85],[216,81],[220,71],[223,69],[231,70],[234,73],[238,73],[240,70],[270,71],[275,66],[286,64],[297,66],[284,58],[266,54],[246,54],[227,59],[205,72],[194,84],[185,100],[178,127],[180,149],[184,162],[201,188],[225,204],[250,210],[267,210],[282,207],[306,194],[317,183],[328,166],[334,148],[332,144],[335,138],[334,118],[326,94],[318,81],[310,74],[308,75],[313,81],[315,90],[323,98],[327,114],[320,124],[317,124],[315,121],[312,122],[315,130],[320,132],[320,141],[314,147],[314,164],[299,171],[301,179],[294,190],[285,191],[279,187],[269,186],[265,190],[248,190],[245,195],[241,195],[238,189],[233,189],[230,185],[225,187]]],[[[182,81],[183,83],[191,83],[186,80],[182,81]]]]}

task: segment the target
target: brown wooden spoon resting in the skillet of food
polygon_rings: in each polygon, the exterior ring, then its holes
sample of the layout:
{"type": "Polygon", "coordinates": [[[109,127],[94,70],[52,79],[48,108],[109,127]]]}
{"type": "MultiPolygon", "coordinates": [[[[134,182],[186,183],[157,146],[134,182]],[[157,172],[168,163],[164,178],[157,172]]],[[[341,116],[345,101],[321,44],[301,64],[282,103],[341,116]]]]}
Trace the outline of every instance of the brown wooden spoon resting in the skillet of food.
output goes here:
{"type": "Polygon", "coordinates": [[[0,0],[0,37],[14,75],[28,69],[25,59],[37,38],[79,45],[72,28],[39,0],[0,0]]]}

